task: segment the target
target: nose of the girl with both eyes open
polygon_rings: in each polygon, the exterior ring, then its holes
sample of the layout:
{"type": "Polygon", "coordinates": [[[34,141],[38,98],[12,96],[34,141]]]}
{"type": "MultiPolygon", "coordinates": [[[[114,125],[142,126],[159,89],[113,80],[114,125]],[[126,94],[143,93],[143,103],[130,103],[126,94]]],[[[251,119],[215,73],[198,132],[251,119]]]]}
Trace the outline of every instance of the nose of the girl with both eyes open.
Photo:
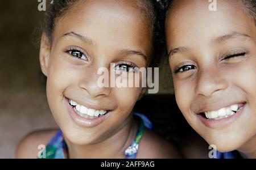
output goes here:
{"type": "Polygon", "coordinates": [[[89,71],[80,81],[80,88],[90,95],[92,98],[108,96],[111,92],[110,87],[102,87],[98,84],[98,80],[102,75],[97,74],[97,70],[89,71]]]}

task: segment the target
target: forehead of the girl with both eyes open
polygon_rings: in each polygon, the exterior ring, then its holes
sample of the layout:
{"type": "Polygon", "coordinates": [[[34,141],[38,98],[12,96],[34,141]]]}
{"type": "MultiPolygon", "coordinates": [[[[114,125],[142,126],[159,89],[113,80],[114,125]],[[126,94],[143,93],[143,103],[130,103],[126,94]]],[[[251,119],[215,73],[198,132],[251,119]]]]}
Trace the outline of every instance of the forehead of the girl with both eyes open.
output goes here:
{"type": "Polygon", "coordinates": [[[127,45],[145,48],[151,43],[151,31],[136,1],[81,1],[56,22],[56,38],[67,32],[79,32],[95,44],[127,45]]]}

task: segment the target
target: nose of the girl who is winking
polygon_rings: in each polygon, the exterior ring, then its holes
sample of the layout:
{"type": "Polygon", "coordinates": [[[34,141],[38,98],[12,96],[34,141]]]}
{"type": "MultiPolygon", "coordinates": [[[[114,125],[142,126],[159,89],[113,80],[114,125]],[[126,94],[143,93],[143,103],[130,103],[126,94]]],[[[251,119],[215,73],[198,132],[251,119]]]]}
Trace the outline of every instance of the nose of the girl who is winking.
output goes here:
{"type": "Polygon", "coordinates": [[[228,80],[225,79],[218,68],[204,69],[199,71],[197,78],[197,96],[210,97],[217,92],[224,91],[228,87],[228,80]]]}

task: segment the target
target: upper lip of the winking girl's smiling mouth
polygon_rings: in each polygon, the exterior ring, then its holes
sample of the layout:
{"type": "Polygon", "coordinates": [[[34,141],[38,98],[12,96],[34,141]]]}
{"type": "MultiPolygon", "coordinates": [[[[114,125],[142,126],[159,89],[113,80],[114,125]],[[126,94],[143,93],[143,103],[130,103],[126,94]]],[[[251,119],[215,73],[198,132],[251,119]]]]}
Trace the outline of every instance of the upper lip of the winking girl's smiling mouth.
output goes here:
{"type": "Polygon", "coordinates": [[[208,104],[208,105],[204,105],[203,107],[201,107],[195,113],[196,114],[201,114],[201,113],[205,113],[205,112],[218,111],[222,108],[227,108],[227,107],[230,107],[234,104],[238,104],[238,106],[240,107],[241,105],[246,104],[246,102],[245,101],[236,101],[236,102],[229,103],[229,104],[224,104],[224,103],[208,104]]]}

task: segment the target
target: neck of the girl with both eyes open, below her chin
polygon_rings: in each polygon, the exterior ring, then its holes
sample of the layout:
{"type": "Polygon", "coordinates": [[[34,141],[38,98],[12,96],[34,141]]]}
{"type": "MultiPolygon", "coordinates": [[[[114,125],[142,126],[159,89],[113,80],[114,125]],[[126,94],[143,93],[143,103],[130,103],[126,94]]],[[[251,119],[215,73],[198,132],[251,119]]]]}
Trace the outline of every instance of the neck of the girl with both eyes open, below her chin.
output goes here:
{"type": "Polygon", "coordinates": [[[125,158],[125,150],[137,133],[136,122],[130,116],[126,124],[108,139],[90,145],[76,145],[65,139],[69,158],[125,158]]]}

